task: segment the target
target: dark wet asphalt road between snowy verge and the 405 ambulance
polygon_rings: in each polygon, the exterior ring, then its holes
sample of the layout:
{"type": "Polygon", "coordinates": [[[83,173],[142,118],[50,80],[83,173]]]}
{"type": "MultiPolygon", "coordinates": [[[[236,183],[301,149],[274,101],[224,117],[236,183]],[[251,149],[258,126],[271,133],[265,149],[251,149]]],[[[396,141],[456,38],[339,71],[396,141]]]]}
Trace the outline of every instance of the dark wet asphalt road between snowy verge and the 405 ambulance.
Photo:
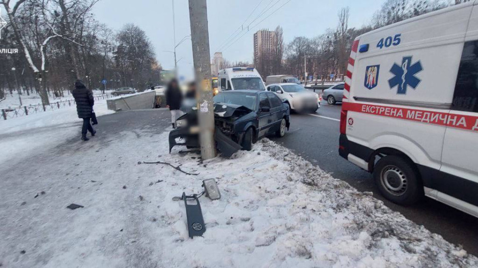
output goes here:
{"type": "Polygon", "coordinates": [[[341,105],[323,103],[315,114],[293,114],[289,132],[282,138],[272,139],[357,190],[373,192],[375,198],[391,209],[478,256],[478,218],[429,198],[407,207],[387,201],[375,188],[371,174],[339,156],[340,110],[341,105]]]}

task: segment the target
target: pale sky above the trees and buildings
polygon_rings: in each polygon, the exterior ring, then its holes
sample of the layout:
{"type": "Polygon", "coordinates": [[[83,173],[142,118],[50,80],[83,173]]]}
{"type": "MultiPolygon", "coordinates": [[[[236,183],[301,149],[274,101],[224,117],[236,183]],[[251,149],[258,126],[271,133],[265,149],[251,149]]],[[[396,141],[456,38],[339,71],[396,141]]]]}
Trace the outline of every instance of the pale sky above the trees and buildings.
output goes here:
{"type": "MultiPolygon", "coordinates": [[[[114,30],[120,30],[127,23],[139,26],[149,37],[156,58],[163,69],[173,69],[173,53],[165,52],[174,49],[172,1],[175,10],[176,43],[179,43],[183,37],[191,34],[188,0],[101,0],[95,5],[93,13],[99,21],[114,30]]],[[[252,37],[257,30],[263,28],[273,30],[280,25],[283,28],[284,43],[287,44],[296,36],[315,37],[323,34],[327,28],[336,28],[338,12],[346,6],[350,7],[349,27],[368,24],[383,1],[208,0],[211,57],[219,51],[223,52],[223,57],[230,62],[251,63],[252,37]],[[256,6],[255,11],[251,13],[256,6]],[[270,6],[272,7],[258,17],[262,10],[270,6]],[[241,38],[235,42],[227,42],[231,35],[238,33],[236,30],[241,25],[247,28],[249,24],[248,32],[244,30],[237,35],[237,38],[242,36],[241,38]],[[251,28],[252,26],[255,27],[251,28]]],[[[177,47],[176,54],[179,75],[192,78],[193,56],[190,38],[177,47]]]]}

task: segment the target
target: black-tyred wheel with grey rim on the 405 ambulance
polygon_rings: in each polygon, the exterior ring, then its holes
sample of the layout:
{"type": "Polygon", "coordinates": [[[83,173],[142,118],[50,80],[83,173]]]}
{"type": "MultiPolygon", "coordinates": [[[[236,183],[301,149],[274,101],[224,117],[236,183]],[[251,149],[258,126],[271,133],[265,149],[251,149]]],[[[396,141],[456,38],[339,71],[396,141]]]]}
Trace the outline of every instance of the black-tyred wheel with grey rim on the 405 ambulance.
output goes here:
{"type": "Polygon", "coordinates": [[[423,197],[423,184],[416,166],[398,155],[380,158],[373,169],[373,180],[388,200],[410,205],[423,197]]]}

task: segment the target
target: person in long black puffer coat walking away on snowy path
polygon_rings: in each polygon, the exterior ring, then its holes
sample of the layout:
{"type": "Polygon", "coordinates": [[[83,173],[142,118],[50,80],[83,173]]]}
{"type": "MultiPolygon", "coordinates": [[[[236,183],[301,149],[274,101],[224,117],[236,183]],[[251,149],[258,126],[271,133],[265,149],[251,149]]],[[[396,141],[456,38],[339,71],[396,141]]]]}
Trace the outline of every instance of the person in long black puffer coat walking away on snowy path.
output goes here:
{"type": "Polygon", "coordinates": [[[86,88],[85,84],[81,80],[75,82],[75,89],[72,91],[73,98],[76,102],[76,111],[78,113],[78,118],[83,119],[83,127],[81,129],[81,139],[89,140],[86,137],[88,131],[92,136],[96,134],[96,131],[90,124],[91,116],[93,113],[93,105],[95,104],[95,99],[93,98],[93,92],[86,88]]]}

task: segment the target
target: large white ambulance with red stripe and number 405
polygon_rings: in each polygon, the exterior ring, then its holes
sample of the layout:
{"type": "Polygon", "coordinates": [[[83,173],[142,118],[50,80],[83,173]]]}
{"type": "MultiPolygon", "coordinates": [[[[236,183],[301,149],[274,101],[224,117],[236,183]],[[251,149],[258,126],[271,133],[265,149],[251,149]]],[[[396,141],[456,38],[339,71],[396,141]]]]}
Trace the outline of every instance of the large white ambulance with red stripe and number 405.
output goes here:
{"type": "Polygon", "coordinates": [[[425,195],[478,216],[478,1],[352,45],[339,153],[398,204],[425,195]]]}

